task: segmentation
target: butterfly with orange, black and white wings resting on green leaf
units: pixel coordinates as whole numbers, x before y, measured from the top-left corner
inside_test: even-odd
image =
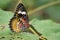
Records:
[[[47,40],[36,29],[29,24],[27,11],[22,3],[17,5],[14,16],[10,20],[10,29],[12,32],[26,32],[30,30],[33,34],[39,36],[40,40]]]

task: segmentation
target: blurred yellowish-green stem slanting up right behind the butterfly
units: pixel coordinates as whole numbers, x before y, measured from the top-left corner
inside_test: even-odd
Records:
[[[47,8],[47,7],[49,7],[49,6],[53,6],[53,5],[59,4],[59,3],[60,3],[60,1],[54,1],[54,2],[51,2],[51,3],[45,4],[45,5],[42,5],[42,6],[36,8],[36,9],[34,9],[34,10],[29,11],[29,12],[28,12],[28,15],[31,15],[32,13],[35,13],[35,12],[37,12],[37,11],[39,11],[39,10],[45,9],[45,8]]]

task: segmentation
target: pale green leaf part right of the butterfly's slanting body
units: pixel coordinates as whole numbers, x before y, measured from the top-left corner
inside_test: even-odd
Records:
[[[33,19],[30,24],[48,40],[60,40],[60,24],[52,20]]]

